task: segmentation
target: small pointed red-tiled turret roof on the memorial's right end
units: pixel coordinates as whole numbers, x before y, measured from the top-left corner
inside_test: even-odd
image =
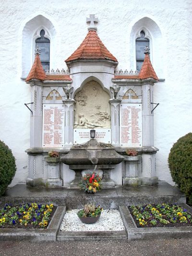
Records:
[[[146,78],[154,78],[156,80],[158,80],[158,77],[154,71],[154,68],[151,64],[150,58],[149,58],[149,54],[145,53],[145,57],[144,57],[144,63],[141,67],[141,70],[139,72],[139,78],[140,79],[146,79]]]

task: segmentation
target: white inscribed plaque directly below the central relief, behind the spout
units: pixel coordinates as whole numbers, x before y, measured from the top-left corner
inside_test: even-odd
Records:
[[[73,130],[73,144],[82,144],[91,139],[91,129],[74,129]],[[98,142],[111,143],[111,129],[95,129]]]

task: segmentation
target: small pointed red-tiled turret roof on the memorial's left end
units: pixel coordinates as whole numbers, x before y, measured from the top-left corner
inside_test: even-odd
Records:
[[[43,70],[39,54],[36,54],[35,61],[33,63],[33,66],[25,80],[25,82],[31,80],[31,79],[38,79],[38,80],[46,80],[46,73]]]

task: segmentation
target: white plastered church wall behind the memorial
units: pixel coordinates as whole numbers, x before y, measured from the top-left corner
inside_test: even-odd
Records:
[[[130,39],[130,35],[136,22],[149,17],[161,31],[160,45],[156,35],[151,35],[154,68],[159,78],[165,78],[154,88],[154,102],[160,103],[154,111],[155,146],[159,148],[156,163],[160,179],[171,182],[167,163],[170,147],[192,129],[191,1],[113,0],[111,4],[111,0],[1,0],[0,139],[16,157],[17,172],[12,185],[25,182],[28,165],[24,150],[29,147],[30,112],[24,103],[30,102],[30,86],[20,79],[24,26],[37,15],[50,20],[55,29],[54,40],[57,37],[55,49],[51,49],[51,67],[66,69],[64,60],[86,36],[86,17],[92,13],[99,19],[98,35],[118,59],[119,69],[134,68],[134,38]],[[153,33],[154,28],[148,29]]]

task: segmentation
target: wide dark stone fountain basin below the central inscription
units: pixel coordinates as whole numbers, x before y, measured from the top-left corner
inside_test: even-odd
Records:
[[[96,140],[91,140],[87,146],[74,146],[68,154],[61,157],[61,161],[67,165],[115,165],[123,160],[113,146],[98,143]]]

